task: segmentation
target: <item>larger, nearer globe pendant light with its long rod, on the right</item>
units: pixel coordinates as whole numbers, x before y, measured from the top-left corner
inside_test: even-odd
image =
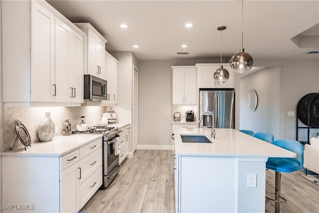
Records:
[[[245,73],[248,72],[254,64],[254,60],[251,55],[247,52],[244,52],[243,47],[243,21],[244,20],[244,0],[242,0],[242,17],[241,17],[241,49],[240,52],[234,54],[230,59],[230,67],[234,72]]]

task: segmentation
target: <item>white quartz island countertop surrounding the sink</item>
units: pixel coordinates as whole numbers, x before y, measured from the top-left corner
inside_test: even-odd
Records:
[[[205,135],[213,143],[183,143],[180,134]],[[175,155],[229,156],[229,157],[278,157],[295,158],[296,153],[272,145],[235,129],[178,128],[174,130]]]

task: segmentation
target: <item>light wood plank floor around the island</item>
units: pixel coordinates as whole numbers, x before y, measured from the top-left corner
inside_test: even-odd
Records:
[[[282,195],[288,200],[282,213],[319,213],[319,185],[302,177],[302,171],[282,174]],[[275,172],[266,171],[266,190],[273,192]],[[118,177],[99,190],[84,206],[86,213],[173,213],[174,171],[169,150],[137,150],[126,159]],[[265,212],[275,212],[274,202]]]

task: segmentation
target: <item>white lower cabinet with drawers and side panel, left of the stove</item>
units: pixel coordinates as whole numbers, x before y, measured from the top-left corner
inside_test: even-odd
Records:
[[[25,205],[22,212],[30,213],[78,212],[102,185],[102,140],[61,157],[1,156],[1,166],[2,205]]]

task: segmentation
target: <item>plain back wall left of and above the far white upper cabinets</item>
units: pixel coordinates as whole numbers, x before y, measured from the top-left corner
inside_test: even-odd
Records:
[[[172,69],[212,60],[139,60],[139,139],[150,149],[171,146]],[[182,115],[183,116],[183,115]],[[144,146],[147,147],[147,146]]]

